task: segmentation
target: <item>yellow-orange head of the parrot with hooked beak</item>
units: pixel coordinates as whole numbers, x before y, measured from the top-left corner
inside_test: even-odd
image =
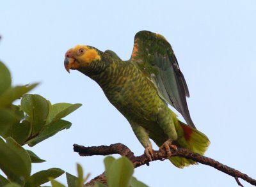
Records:
[[[66,52],[64,66],[69,73],[70,69],[86,68],[93,61],[100,61],[100,59],[99,50],[86,45],[76,45]]]

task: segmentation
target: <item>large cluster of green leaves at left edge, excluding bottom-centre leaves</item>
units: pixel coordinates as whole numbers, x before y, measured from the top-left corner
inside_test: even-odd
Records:
[[[39,142],[68,129],[71,123],[62,118],[74,112],[81,104],[56,103],[28,91],[38,84],[12,86],[10,71],[0,62],[0,186],[40,186],[61,176],[60,168],[49,168],[31,174],[31,163],[44,162],[25,144]],[[20,100],[20,105],[13,101]]]

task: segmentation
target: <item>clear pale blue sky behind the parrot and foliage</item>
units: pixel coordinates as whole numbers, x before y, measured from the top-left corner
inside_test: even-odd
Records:
[[[81,163],[92,177],[101,174],[104,156],[81,158],[72,151],[74,143],[122,142],[136,155],[143,153],[100,87],[78,71],[68,74],[63,60],[77,44],[129,59],[134,35],[144,29],[163,34],[173,46],[188,83],[191,117],[211,140],[205,155],[256,178],[255,0],[2,1],[0,59],[10,68],[13,84],[41,82],[31,93],[52,103],[83,103],[66,118],[70,130],[31,148],[47,160],[34,164],[33,172],[60,167],[76,175],[76,163]],[[179,169],[170,161],[136,168],[135,176],[152,187],[237,186],[234,178],[214,168]],[[64,176],[58,180],[66,183]]]

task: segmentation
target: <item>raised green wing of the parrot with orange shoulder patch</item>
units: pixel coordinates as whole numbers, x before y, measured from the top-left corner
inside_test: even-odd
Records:
[[[186,122],[195,128],[191,120],[186,96],[188,86],[172,47],[164,36],[150,31],[135,35],[130,61],[138,64],[141,71],[152,80],[159,96],[182,114]]]

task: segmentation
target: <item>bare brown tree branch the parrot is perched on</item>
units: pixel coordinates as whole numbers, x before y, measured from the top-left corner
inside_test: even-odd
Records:
[[[177,150],[172,149],[172,147],[170,148],[172,150],[172,156],[181,156],[184,158],[189,158],[191,160],[197,161],[198,163],[202,163],[204,165],[209,165],[211,167],[214,167],[220,170],[221,172],[224,172],[225,174],[228,174],[229,176],[234,177],[239,186],[243,186],[239,182],[239,178],[243,179],[244,181],[247,181],[253,186],[256,186],[255,179],[252,179],[251,177],[247,176],[246,174],[243,174],[242,172],[239,172],[239,170],[228,167],[227,165],[223,165],[222,163],[216,160],[213,160],[212,158],[193,153],[188,149],[184,149],[184,148],[178,147]],[[74,151],[79,153],[80,156],[120,154],[122,156],[126,156],[127,158],[129,158],[129,160],[132,161],[134,168],[140,167],[141,165],[145,165],[145,164],[149,165],[149,162],[150,162],[150,160],[147,158],[145,154],[142,154],[141,156],[134,156],[134,153],[132,153],[132,151],[128,147],[120,143],[111,144],[110,146],[92,146],[92,147],[84,147],[84,146],[79,146],[77,144],[74,144]],[[166,160],[170,157],[166,155],[166,151],[164,149],[160,149],[159,151],[154,151],[153,155],[154,155],[154,158],[152,158],[152,161]],[[100,181],[101,183],[106,184],[106,177],[104,176],[104,173],[95,177],[88,183],[86,183],[85,186],[91,186],[95,183],[95,181]]]

